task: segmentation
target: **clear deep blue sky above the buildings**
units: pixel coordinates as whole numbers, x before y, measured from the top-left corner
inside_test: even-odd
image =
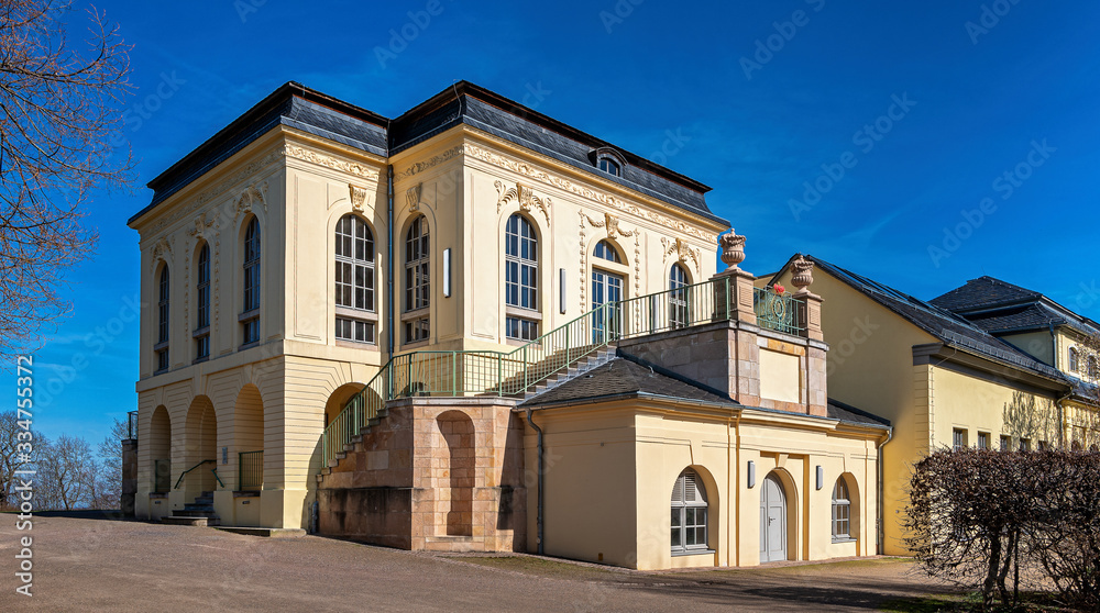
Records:
[[[466,79],[712,186],[755,274],[802,250],[925,299],[991,275],[1100,319],[1093,2],[97,7],[133,45],[140,186],[288,80],[396,116]],[[89,208],[98,252],[35,358],[47,435],[136,406],[125,220],[150,198]]]

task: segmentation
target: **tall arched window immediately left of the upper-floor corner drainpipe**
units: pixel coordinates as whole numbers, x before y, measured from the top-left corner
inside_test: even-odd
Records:
[[[337,222],[337,338],[374,343],[374,235],[361,218]]]

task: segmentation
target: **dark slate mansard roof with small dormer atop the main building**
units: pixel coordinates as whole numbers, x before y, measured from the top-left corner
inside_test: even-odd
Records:
[[[704,219],[728,224],[706,205],[704,194],[710,187],[468,81],[448,87],[393,120],[287,82],[150,181],[152,202],[128,223],[280,124],[381,156],[397,154],[466,124]],[[596,168],[593,152],[604,147],[626,160],[622,177]]]

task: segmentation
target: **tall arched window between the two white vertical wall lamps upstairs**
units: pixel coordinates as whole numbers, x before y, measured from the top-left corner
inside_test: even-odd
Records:
[[[504,233],[504,296],[506,336],[519,341],[539,337],[539,242],[535,226],[519,213],[508,218]]]

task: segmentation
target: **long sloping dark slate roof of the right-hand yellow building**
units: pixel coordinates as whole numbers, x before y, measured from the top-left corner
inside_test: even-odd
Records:
[[[862,277],[814,256],[806,256],[814,265],[871,300],[898,313],[913,325],[927,332],[945,345],[960,348],[996,361],[1009,364],[1024,371],[1059,382],[1068,382],[1065,375],[1043,364],[1016,347],[1001,341],[978,325],[947,309],[925,302],[889,286]]]

